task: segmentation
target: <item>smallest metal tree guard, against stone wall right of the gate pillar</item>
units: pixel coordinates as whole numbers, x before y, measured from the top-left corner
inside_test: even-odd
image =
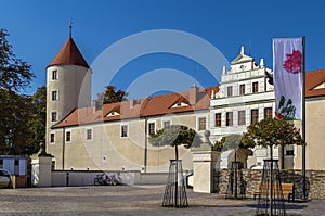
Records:
[[[238,191],[239,195],[238,196]],[[245,196],[245,181],[240,162],[232,162],[231,171],[229,175],[227,190],[225,198],[243,199]]]

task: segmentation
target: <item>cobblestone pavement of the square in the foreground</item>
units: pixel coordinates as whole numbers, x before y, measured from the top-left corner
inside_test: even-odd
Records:
[[[96,186],[1,189],[0,215],[253,215],[256,201],[187,190],[188,207],[161,207],[164,187]],[[325,200],[286,203],[288,215],[324,215]]]

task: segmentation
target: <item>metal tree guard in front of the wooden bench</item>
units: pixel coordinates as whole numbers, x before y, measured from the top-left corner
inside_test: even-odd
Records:
[[[285,216],[278,160],[264,160],[256,216]]]

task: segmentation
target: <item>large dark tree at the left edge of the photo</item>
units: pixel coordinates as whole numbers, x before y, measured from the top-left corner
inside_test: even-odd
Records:
[[[26,153],[31,136],[29,125],[31,98],[20,93],[29,86],[34,74],[30,65],[15,56],[0,29],[0,154]]]

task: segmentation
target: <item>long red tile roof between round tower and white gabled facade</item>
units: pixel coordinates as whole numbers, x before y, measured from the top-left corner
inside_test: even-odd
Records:
[[[104,104],[102,110],[98,111],[95,111],[93,106],[81,107],[73,111],[67,117],[54,125],[52,128],[207,110],[210,106],[212,90],[217,92],[219,88],[210,87],[205,90],[200,90],[197,103],[192,106],[172,107],[172,105],[178,102],[190,104],[190,91],[184,91],[133,101]],[[131,102],[133,102],[133,105],[131,105]],[[118,115],[107,116],[112,112],[116,112]]]

